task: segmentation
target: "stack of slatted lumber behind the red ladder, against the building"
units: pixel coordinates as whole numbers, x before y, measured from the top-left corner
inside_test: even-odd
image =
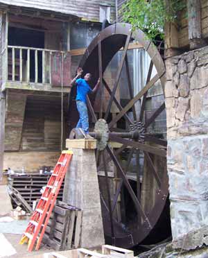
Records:
[[[33,207],[33,201],[40,199],[42,193],[40,190],[42,187],[46,186],[51,173],[47,174],[20,174],[20,175],[9,175],[8,176],[8,185],[17,189],[21,196],[26,200],[28,205]],[[64,182],[58,193],[58,200],[62,200]],[[17,207],[14,201],[12,201],[12,207]]]

